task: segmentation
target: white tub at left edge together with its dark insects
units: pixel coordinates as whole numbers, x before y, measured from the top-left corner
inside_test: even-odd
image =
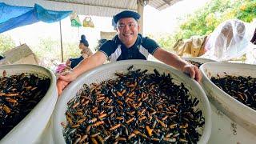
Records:
[[[0,142],[37,142],[57,102],[54,74],[25,64],[1,66],[0,74]]]

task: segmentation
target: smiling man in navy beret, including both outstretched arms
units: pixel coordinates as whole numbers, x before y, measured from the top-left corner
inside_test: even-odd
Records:
[[[58,94],[61,94],[62,90],[80,74],[101,66],[107,59],[110,62],[126,59],[146,60],[149,54],[152,54],[154,58],[167,65],[174,66],[178,70],[190,74],[191,78],[200,82],[202,75],[197,66],[182,60],[176,54],[163,50],[153,39],[144,38],[141,34],[138,34],[139,18],[140,15],[138,13],[130,10],[116,14],[113,20],[117,26],[118,35],[105,42],[90,58],[84,59],[74,69],[60,75],[57,81]]]

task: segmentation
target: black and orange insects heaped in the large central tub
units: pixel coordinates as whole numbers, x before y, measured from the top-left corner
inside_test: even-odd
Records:
[[[198,99],[170,74],[132,69],[78,90],[62,122],[66,143],[198,142],[205,123]]]

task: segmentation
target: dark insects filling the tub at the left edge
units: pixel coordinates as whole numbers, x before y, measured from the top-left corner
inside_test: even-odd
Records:
[[[0,77],[0,139],[21,122],[38,104],[50,86],[50,78],[35,74]],[[34,125],[31,123],[31,125]]]

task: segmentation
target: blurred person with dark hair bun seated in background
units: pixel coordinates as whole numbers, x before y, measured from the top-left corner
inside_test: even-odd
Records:
[[[81,50],[81,56],[79,58],[69,58],[66,61],[66,66],[70,66],[72,69],[78,65],[83,59],[89,58],[93,53],[89,48],[89,43],[86,40],[84,34],[81,35],[81,40],[79,43],[79,49]]]

